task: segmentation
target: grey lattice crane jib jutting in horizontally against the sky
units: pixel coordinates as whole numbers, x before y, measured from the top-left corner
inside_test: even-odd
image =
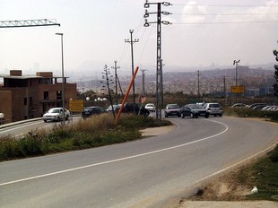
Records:
[[[60,26],[60,24],[56,23],[56,19],[0,21],[0,28],[41,27],[41,26]]]

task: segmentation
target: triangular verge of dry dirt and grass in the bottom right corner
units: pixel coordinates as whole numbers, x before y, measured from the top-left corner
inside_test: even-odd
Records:
[[[278,202],[278,144],[263,157],[213,178],[189,196],[193,201]],[[253,192],[256,186],[257,192]]]

